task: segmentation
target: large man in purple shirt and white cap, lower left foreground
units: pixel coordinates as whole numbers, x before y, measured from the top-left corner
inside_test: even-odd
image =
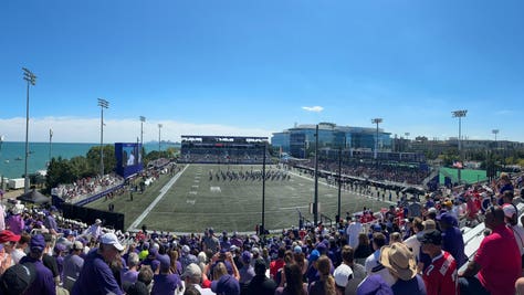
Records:
[[[98,249],[91,251],[84,261],[84,266],[76,280],[71,295],[115,294],[122,295],[120,286],[116,282],[107,263],[114,261],[124,246],[114,233],[101,236]]]

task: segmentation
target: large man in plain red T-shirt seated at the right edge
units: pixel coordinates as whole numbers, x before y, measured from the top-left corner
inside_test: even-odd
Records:
[[[461,295],[515,294],[515,281],[521,276],[521,253],[515,236],[505,223],[501,207],[485,212],[485,236],[463,273],[459,273]]]

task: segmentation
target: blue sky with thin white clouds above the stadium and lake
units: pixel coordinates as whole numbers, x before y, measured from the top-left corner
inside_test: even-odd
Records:
[[[270,136],[331,122],[524,141],[524,2],[1,1],[0,134],[99,141]],[[310,110],[312,107],[315,110]]]

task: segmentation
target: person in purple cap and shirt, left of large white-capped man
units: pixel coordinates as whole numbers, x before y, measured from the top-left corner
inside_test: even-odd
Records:
[[[24,294],[55,295],[56,286],[54,285],[53,273],[42,263],[42,255],[45,249],[43,235],[33,235],[29,246],[30,253],[20,260],[20,264],[32,263],[36,277]]]

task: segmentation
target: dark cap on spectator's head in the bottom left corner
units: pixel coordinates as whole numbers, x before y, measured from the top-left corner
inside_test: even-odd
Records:
[[[34,282],[36,272],[31,263],[14,264],[6,270],[0,278],[0,288],[2,294],[23,294]]]

